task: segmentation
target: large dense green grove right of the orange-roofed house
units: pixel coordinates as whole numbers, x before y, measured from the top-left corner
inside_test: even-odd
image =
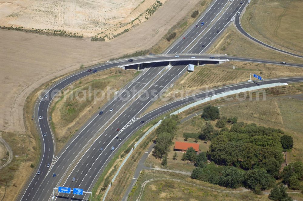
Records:
[[[211,140],[208,157],[220,165],[244,170],[264,168],[277,176],[283,162],[281,130],[256,124],[234,124]]]

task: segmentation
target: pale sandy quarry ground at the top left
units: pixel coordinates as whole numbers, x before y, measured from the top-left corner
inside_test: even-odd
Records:
[[[65,30],[84,37],[115,35],[153,4],[155,0],[0,0],[0,25]]]

